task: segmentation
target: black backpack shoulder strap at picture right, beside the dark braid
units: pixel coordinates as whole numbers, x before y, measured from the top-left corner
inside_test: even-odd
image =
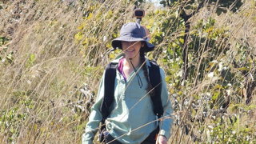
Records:
[[[160,118],[163,114],[161,91],[162,91],[162,78],[160,74],[160,67],[154,61],[150,61],[149,77],[150,83],[154,89],[154,94],[150,96],[153,102],[154,114]]]

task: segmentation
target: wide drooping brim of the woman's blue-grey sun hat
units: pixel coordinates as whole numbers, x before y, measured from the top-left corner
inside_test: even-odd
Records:
[[[154,45],[151,44],[150,42],[147,42],[146,39],[144,38],[134,38],[134,37],[119,37],[119,38],[115,38],[112,42],[111,45],[114,49],[119,48],[122,50],[122,42],[145,42],[146,46],[145,47],[145,52],[149,52],[154,50]]]

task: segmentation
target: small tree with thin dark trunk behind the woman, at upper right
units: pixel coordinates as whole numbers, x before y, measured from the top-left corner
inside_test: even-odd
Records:
[[[203,7],[214,6],[215,12],[219,15],[226,13],[228,10],[236,12],[240,6],[242,6],[242,0],[162,0],[160,2],[164,7],[178,6],[178,14],[185,23],[184,43],[182,48],[182,60],[183,60],[183,76],[182,81],[187,79],[188,76],[188,38],[190,34],[190,18],[197,14]]]

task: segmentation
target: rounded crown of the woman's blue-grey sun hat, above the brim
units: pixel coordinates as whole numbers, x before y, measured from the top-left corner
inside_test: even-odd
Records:
[[[120,35],[126,37],[146,39],[146,31],[141,25],[136,22],[129,22],[123,25],[120,31]]]

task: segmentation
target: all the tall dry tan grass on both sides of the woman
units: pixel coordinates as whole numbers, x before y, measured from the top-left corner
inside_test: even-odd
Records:
[[[2,4],[0,11],[0,35],[10,39],[1,46],[0,56],[5,62],[0,64],[0,110],[1,117],[8,121],[2,126],[0,142],[17,143],[79,143],[86,124],[88,110],[91,106],[90,98],[98,89],[98,81],[107,62],[110,61],[110,41],[118,36],[120,26],[133,21],[133,2],[125,1],[75,1],[73,3],[60,1],[18,0]],[[144,5],[146,12],[154,11],[154,6]],[[220,45],[230,43],[230,56],[236,56],[238,50],[235,42],[246,38],[255,53],[255,8],[247,2],[238,14],[222,14],[217,16],[214,11],[202,10],[192,19],[196,25],[200,18],[214,17],[218,19],[218,26],[228,26],[230,34]],[[160,14],[159,14],[160,15]],[[154,18],[158,20],[158,15]],[[170,17],[166,14],[166,18]],[[143,22],[147,26],[146,22]],[[170,27],[174,27],[174,23]],[[156,50],[149,57],[161,55],[161,47],[173,42],[182,34],[182,27],[170,30],[171,34],[158,43]],[[220,39],[222,40],[222,39]],[[194,63],[203,61],[210,54],[202,45],[198,59]],[[6,52],[4,52],[6,50]],[[115,52],[118,55],[121,52]],[[9,55],[8,55],[9,54]],[[232,55],[233,54],[233,55]],[[10,62],[8,62],[8,58]],[[232,57],[231,57],[232,58]],[[235,58],[235,57],[233,57]],[[255,57],[254,57],[255,58]],[[220,60],[221,57],[215,60]],[[231,62],[231,61],[230,61]],[[161,62],[160,62],[161,63]],[[162,67],[169,68],[161,63]],[[191,65],[192,65],[191,64]],[[197,65],[199,70],[199,65]],[[182,70],[182,68],[180,68]],[[197,79],[199,71],[194,75]],[[242,81],[252,81],[244,78]],[[197,81],[197,82],[195,82]],[[182,101],[178,103],[180,109],[174,112],[177,122],[173,126],[170,143],[190,143],[191,134],[200,136],[199,142],[209,142],[208,129],[199,132],[202,126],[212,125],[211,116],[222,117],[210,111],[206,120],[200,125],[190,122],[191,106],[194,95],[202,96],[198,102],[195,119],[202,118],[206,96],[202,94],[212,89],[214,81],[204,77],[195,80],[189,86],[183,86]],[[86,83],[86,86],[84,85]],[[246,84],[246,82],[242,82]],[[233,87],[230,87],[232,90]],[[173,89],[172,86],[169,89]],[[244,89],[242,89],[244,90]],[[91,93],[86,93],[91,92]],[[245,92],[242,92],[245,94]],[[252,92],[255,97],[255,90]],[[235,97],[236,94],[234,94]],[[93,99],[92,98],[92,99]],[[172,101],[175,98],[170,97]],[[233,98],[236,99],[236,98]],[[245,103],[246,98],[242,99]],[[175,102],[174,102],[175,103]],[[185,104],[184,104],[185,103]],[[255,105],[255,98],[251,104]],[[217,105],[217,104],[216,104]],[[234,112],[230,112],[230,115]],[[250,114],[243,114],[240,118],[244,125],[255,123],[255,110]],[[250,122],[247,122],[250,121]],[[9,123],[8,123],[9,122]],[[186,126],[189,134],[185,134]],[[207,135],[208,134],[208,135]]]

